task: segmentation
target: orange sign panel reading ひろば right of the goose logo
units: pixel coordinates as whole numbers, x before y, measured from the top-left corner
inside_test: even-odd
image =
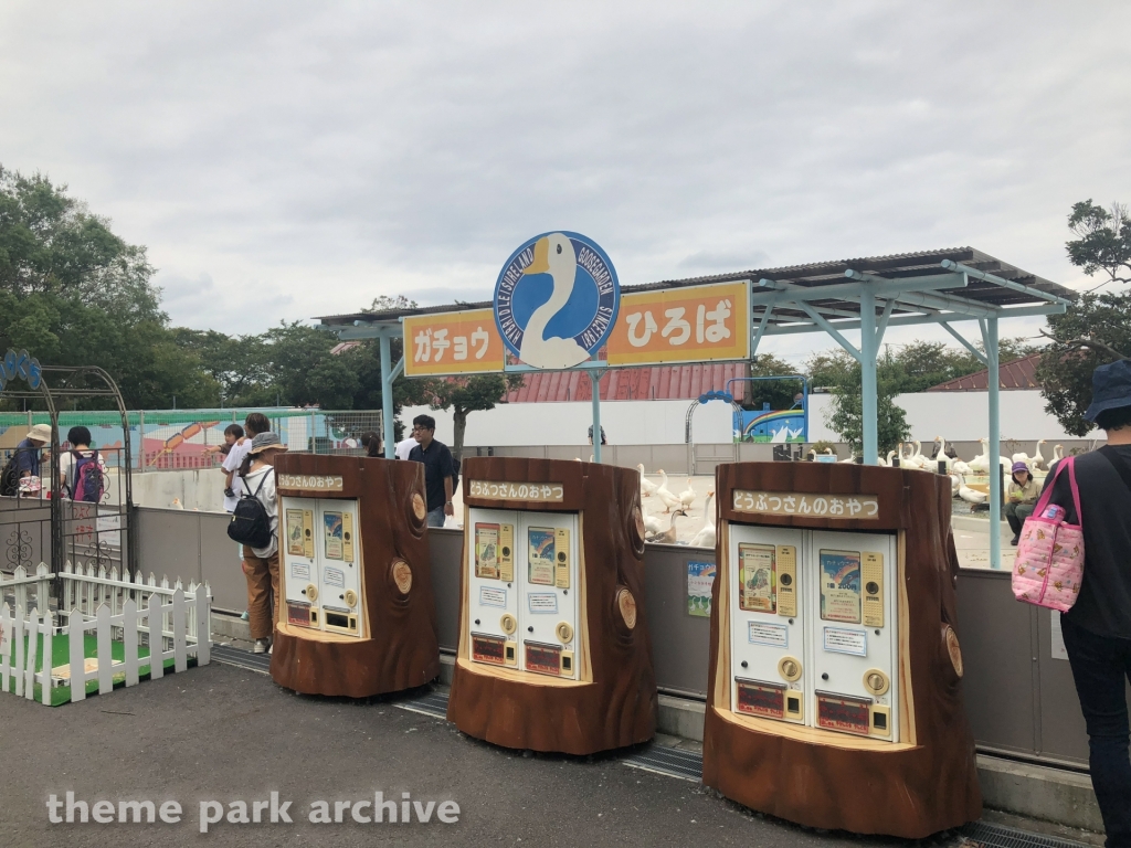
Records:
[[[621,295],[610,365],[750,357],[750,284],[715,283]]]

